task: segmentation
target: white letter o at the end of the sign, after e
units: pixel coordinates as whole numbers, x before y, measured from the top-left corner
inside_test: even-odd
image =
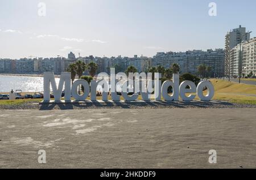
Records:
[[[204,87],[207,87],[208,91],[206,96],[203,94]],[[196,93],[201,101],[210,101],[214,96],[214,87],[211,82],[203,81],[197,85]]]

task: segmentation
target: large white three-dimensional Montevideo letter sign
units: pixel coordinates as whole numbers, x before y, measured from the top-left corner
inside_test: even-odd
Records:
[[[71,72],[62,72],[60,75],[59,85],[57,87],[55,76],[53,72],[44,72],[44,101],[50,101],[50,85],[52,87],[55,102],[60,102],[61,93],[64,88],[65,102],[71,102],[71,97],[75,101],[85,101],[90,95],[91,101],[96,101],[96,89],[98,86],[102,87],[102,100],[108,101],[108,94],[110,93],[113,101],[120,101],[120,96],[117,95],[117,87],[121,87],[121,95],[126,101],[137,100],[139,94],[143,101],[179,101],[179,96],[183,101],[192,101],[196,95],[201,101],[210,101],[214,95],[214,87],[209,81],[201,81],[197,87],[195,83],[186,80],[179,84],[179,74],[173,74],[173,80],[167,80],[161,83],[161,74],[154,73],[154,80],[152,80],[152,73],[141,72],[129,73],[127,78],[124,72],[115,74],[114,68],[110,70],[110,85],[109,89],[109,75],[105,72],[98,74],[100,80],[92,80],[90,85],[86,80],[76,80],[71,85]],[[128,80],[127,80],[128,79]],[[84,92],[79,94],[78,87],[82,85]],[[169,87],[172,87],[171,94],[168,93]],[[207,87],[207,94],[204,95],[204,89]],[[131,93],[133,92],[133,93]],[[196,95],[195,95],[196,93]]]

